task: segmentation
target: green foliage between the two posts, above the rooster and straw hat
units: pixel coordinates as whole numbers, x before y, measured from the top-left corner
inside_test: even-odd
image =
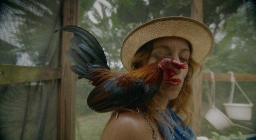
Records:
[[[80,26],[97,38],[111,69],[125,70],[120,60],[120,46],[125,36],[153,18],[189,17],[190,4],[191,0],[81,0]]]

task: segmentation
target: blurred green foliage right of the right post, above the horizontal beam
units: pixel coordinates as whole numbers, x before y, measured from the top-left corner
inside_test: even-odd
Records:
[[[230,3],[235,0],[225,1]],[[254,7],[250,2],[242,2],[239,6],[235,4],[236,10],[233,9],[234,7],[230,7],[230,12],[227,10],[224,12],[220,9],[226,9],[223,7],[225,5],[216,6],[216,9],[211,11],[213,15],[218,13],[215,17],[218,18],[218,21],[214,20],[208,23],[215,34],[216,42],[209,57],[203,61],[203,71],[255,73],[256,48],[253,44],[256,43],[256,32],[253,30],[256,29],[256,23],[253,16]],[[206,21],[208,22],[208,18]]]

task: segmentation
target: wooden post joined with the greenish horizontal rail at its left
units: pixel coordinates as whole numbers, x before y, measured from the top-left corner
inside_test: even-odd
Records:
[[[63,25],[78,25],[79,0],[63,0]],[[62,33],[60,68],[0,64],[0,85],[40,80],[59,80],[58,139],[75,139],[76,75],[65,51],[71,47],[70,32]]]

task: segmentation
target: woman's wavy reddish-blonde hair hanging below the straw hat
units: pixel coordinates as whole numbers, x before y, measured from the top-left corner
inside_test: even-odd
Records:
[[[145,43],[136,51],[135,55],[133,56],[130,62],[130,66],[133,68],[133,70],[141,67],[142,66],[141,62],[149,58],[153,50],[154,40],[151,40]],[[187,42],[189,44],[190,52],[192,52],[191,45],[189,41]],[[184,79],[179,95],[175,99],[170,100],[168,104],[175,113],[177,113],[180,117],[183,118],[183,122],[181,122],[181,125],[185,125],[186,123],[190,124],[192,122],[192,118],[193,118],[192,79],[193,79],[193,76],[197,76],[197,74],[195,74],[196,70],[201,71],[201,65],[195,62],[190,55],[188,59],[188,73]],[[156,126],[157,126],[157,123],[159,122],[161,122],[162,124],[167,124],[166,120],[159,114],[159,112],[161,112],[162,114],[165,114],[165,112],[168,112],[168,111],[164,106],[160,105],[160,102],[157,100],[156,96],[153,97],[151,100],[149,100],[143,106],[140,106],[139,110],[145,115],[146,118],[151,119]],[[168,129],[167,125],[163,127],[166,130]],[[172,126],[172,129],[173,129],[173,126]]]

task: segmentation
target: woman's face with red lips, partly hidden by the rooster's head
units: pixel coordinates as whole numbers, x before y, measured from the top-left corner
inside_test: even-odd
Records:
[[[153,50],[147,60],[142,61],[142,65],[155,62],[159,55],[171,56],[174,60],[179,62],[187,62],[190,56],[188,43],[185,39],[180,37],[162,37],[153,41]],[[171,100],[178,96],[184,82],[184,78],[188,72],[188,64],[186,69],[180,69],[181,73],[175,74],[171,81],[163,79],[157,96],[160,100]]]

